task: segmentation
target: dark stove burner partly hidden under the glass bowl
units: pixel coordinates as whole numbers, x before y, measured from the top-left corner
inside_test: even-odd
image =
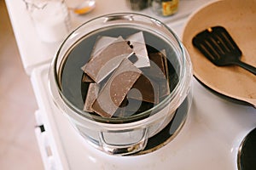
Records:
[[[158,150],[160,149],[160,147],[166,145],[172,139],[174,139],[174,137],[180,131],[181,127],[183,127],[188,111],[189,101],[188,99],[185,99],[183,101],[183,104],[180,105],[179,108],[177,108],[177,111],[173,116],[172,121],[169,122],[169,124],[167,124],[167,126],[162,129],[160,133],[157,133],[153,137],[149,138],[148,144],[146,145],[145,149],[135,155],[147,154],[154,150]]]

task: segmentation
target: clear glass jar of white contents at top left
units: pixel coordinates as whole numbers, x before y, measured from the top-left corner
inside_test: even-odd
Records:
[[[61,42],[70,31],[70,16],[64,0],[23,0],[38,37],[43,42]]]

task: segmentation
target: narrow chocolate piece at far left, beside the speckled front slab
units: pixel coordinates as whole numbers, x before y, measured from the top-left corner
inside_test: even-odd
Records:
[[[93,112],[91,109],[91,105],[96,100],[99,94],[99,85],[97,83],[90,83],[88,92],[84,102],[84,111]]]

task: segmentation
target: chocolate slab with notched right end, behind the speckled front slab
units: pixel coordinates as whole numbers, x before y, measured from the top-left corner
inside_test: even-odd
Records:
[[[84,72],[95,82],[101,82],[116,69],[119,63],[133,54],[132,49],[125,41],[117,40],[104,48],[99,54],[91,57],[84,65]]]

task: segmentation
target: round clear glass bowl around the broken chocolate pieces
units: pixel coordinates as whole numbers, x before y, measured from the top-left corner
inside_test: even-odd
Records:
[[[168,73],[171,92],[159,104],[132,116],[102,117],[83,111],[81,67],[89,62],[96,39],[127,37],[137,31],[143,31],[148,46],[165,49],[172,65]],[[148,139],[172,121],[183,101],[191,101],[191,81],[192,65],[182,42],[168,26],[142,14],[108,14],[85,22],[61,44],[49,70],[51,95],[73,127],[96,149],[121,156],[143,150]]]

